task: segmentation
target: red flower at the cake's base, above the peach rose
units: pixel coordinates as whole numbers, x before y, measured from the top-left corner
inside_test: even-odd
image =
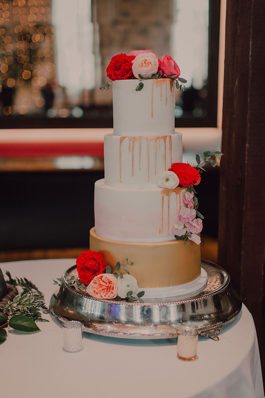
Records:
[[[107,263],[103,261],[103,254],[87,250],[79,254],[76,259],[78,277],[82,283],[89,285],[92,279],[106,269]]]

